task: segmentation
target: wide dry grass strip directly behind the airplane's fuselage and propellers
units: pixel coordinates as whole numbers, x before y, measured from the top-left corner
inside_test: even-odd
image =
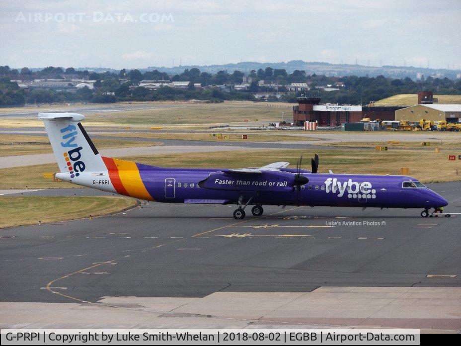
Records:
[[[460,161],[448,161],[448,155],[457,155],[458,150],[435,153],[434,148],[400,149],[380,152],[363,149],[315,150],[320,156],[320,173],[399,174],[400,168],[410,169],[410,175],[424,182],[457,181],[461,179]],[[243,168],[260,167],[277,161],[288,161],[296,167],[300,155],[303,167],[310,169],[310,157],[314,150],[274,149],[230,151],[220,153],[163,154],[146,157],[127,157],[148,165],[190,168]],[[8,168],[0,170],[0,189],[5,188],[57,188],[76,187],[67,182],[53,182],[43,173],[57,172],[56,164]]]

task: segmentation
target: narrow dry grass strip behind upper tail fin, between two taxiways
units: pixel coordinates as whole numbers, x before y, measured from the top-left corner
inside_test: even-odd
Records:
[[[144,147],[160,145],[159,142],[143,142],[135,139],[95,139],[94,145],[99,149],[123,148],[123,147]],[[27,135],[1,135],[0,156],[31,155],[51,153],[51,145],[48,137],[27,136]]]

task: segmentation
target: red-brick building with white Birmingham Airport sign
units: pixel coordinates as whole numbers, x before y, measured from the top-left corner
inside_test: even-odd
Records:
[[[299,97],[298,105],[293,107],[293,122],[317,122],[319,126],[341,126],[346,122],[359,122],[362,118],[370,120],[395,120],[395,111],[402,106],[362,106],[320,104],[319,97]]]

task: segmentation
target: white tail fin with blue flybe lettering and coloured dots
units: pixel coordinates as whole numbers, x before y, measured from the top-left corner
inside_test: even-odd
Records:
[[[107,168],[80,121],[77,113],[39,113],[50,139],[61,173],[71,178],[81,172],[102,173]]]

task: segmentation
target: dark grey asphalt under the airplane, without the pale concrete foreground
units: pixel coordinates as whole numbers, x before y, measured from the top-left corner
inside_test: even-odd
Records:
[[[460,183],[431,186],[461,211]],[[67,194],[88,189],[32,191]],[[88,190],[89,191],[89,190]],[[444,192],[441,192],[444,191]],[[23,192],[27,195],[27,192]],[[82,192],[80,192],[82,193]],[[460,286],[458,216],[419,210],[150,203],[106,217],[0,231],[1,301],[65,302],[53,286],[101,296],[203,297],[217,291],[309,292],[319,286]],[[339,222],[339,225],[333,223]],[[94,267],[94,263],[97,264]],[[115,264],[116,263],[116,264]],[[456,275],[427,277],[427,275]]]

